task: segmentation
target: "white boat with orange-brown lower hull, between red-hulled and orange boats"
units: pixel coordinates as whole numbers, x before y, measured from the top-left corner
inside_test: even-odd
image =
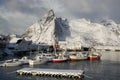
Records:
[[[83,54],[82,52],[79,52],[79,53],[71,53],[69,55],[69,58],[71,61],[79,61],[79,60],[87,60],[88,56],[87,54]]]

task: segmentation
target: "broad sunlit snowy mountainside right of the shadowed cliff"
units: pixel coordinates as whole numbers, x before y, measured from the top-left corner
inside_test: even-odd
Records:
[[[69,25],[73,32],[72,35],[80,36],[83,45],[110,46],[120,44],[119,34],[117,34],[119,32],[118,27],[112,24],[108,27],[85,19],[79,19],[70,21]]]

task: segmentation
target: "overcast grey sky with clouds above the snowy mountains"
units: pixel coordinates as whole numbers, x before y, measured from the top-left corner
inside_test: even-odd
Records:
[[[0,34],[24,33],[50,9],[57,17],[120,23],[120,0],[0,0]]]

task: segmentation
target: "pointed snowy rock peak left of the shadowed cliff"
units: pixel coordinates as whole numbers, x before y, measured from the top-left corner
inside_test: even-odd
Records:
[[[53,10],[50,10],[41,20],[30,26],[23,37],[33,43],[52,44],[54,33],[55,16]]]

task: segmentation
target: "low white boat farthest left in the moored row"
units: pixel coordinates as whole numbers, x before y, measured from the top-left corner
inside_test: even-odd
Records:
[[[20,66],[22,62],[18,59],[6,60],[1,66],[3,67],[12,67],[12,66]]]

